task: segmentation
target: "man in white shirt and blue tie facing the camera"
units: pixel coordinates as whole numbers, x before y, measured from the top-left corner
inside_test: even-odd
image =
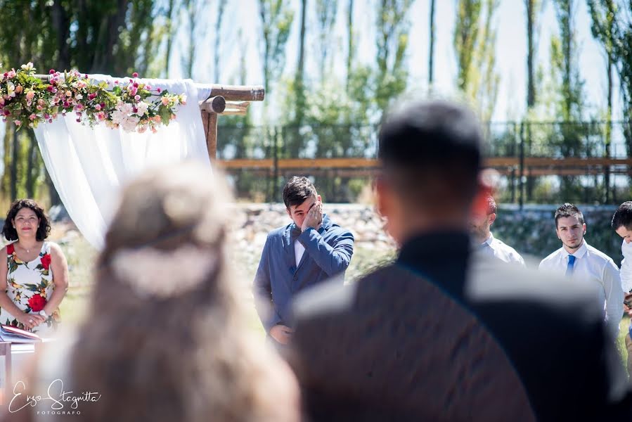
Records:
[[[562,248],[544,258],[540,269],[594,281],[595,294],[604,302],[608,331],[617,338],[624,300],[619,267],[608,255],[586,243],[586,223],[575,205],[565,203],[557,208],[555,232]]]

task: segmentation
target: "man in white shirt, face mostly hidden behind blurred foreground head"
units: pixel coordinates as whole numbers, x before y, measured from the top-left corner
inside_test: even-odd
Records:
[[[470,216],[470,234],[475,251],[489,254],[504,262],[524,265],[524,260],[514,248],[491,234],[491,224],[496,220],[496,201],[491,195],[488,195],[486,200],[486,213],[472,212]]]

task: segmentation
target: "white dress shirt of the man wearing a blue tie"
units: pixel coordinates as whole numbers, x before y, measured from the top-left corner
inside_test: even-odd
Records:
[[[566,274],[569,252],[560,248],[540,262],[540,269]],[[621,289],[619,267],[605,253],[593,248],[583,240],[578,250],[574,252],[575,263],[573,278],[583,278],[594,282],[600,302],[604,302],[605,321],[608,331],[617,337],[619,322],[623,315],[624,293]]]

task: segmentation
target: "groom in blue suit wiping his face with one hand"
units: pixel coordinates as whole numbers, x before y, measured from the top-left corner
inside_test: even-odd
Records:
[[[283,203],[292,223],[268,234],[252,286],[259,319],[280,345],[292,336],[292,298],[334,277],[342,284],[354,252],[354,236],[323,214],[321,196],[307,177],[285,184]]]

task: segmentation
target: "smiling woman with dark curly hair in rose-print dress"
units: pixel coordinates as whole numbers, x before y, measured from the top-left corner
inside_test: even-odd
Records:
[[[2,234],[13,241],[0,250],[0,324],[50,335],[68,288],[68,266],[56,243],[46,241],[51,222],[32,199],[11,204]]]

